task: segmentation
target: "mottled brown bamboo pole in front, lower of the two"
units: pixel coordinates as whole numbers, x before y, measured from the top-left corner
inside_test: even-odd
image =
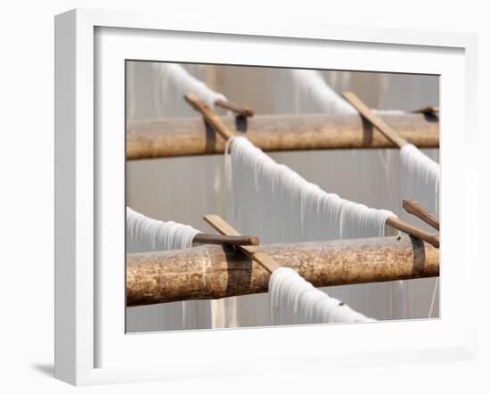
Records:
[[[439,250],[408,235],[261,245],[316,287],[439,275]],[[231,246],[127,255],[127,306],[267,291],[270,274]]]

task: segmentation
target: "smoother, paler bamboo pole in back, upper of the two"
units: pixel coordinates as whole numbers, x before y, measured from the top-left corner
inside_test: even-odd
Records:
[[[312,149],[377,149],[396,145],[352,115],[255,115],[218,117],[228,130],[245,135],[265,152]],[[439,146],[439,122],[421,113],[381,115],[390,127],[420,148]],[[201,117],[127,123],[127,160],[223,153],[225,141]]]

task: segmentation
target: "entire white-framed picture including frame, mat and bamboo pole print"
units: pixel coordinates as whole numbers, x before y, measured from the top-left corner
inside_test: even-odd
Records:
[[[55,376],[474,357],[476,38],[235,22],[56,16]]]

